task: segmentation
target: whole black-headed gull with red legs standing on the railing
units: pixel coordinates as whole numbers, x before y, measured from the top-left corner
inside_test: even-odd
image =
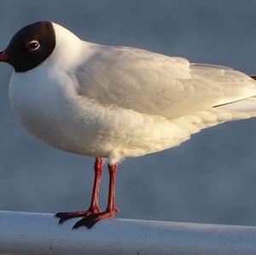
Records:
[[[254,76],[146,49],[91,43],[53,21],[21,28],[0,61],[14,68],[9,99],[21,125],[55,148],[96,159],[88,210],[55,214],[59,223],[81,217],[73,229],[90,229],[119,212],[115,180],[123,159],[256,116]],[[105,161],[108,206],[102,211]]]

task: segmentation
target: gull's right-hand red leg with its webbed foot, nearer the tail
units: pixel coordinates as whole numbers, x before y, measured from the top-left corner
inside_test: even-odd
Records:
[[[73,229],[77,229],[80,226],[86,226],[90,229],[96,222],[102,220],[103,218],[113,217],[118,208],[115,206],[115,179],[117,172],[117,164],[108,164],[109,171],[109,189],[108,189],[108,206],[105,212],[97,212],[83,217],[79,222],[75,223]]]

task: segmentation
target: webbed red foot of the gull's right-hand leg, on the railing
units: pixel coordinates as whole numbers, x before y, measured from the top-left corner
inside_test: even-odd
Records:
[[[116,208],[113,212],[106,211],[87,215],[75,223],[72,229],[78,229],[81,226],[85,226],[87,229],[90,229],[95,223],[102,220],[103,218],[114,217],[117,210],[118,209]]]

